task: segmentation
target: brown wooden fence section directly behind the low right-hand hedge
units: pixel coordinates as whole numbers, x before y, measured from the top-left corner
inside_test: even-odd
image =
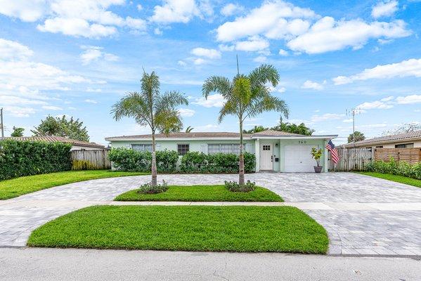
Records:
[[[375,148],[374,159],[389,161],[390,157],[396,161],[409,164],[421,162],[421,148]]]

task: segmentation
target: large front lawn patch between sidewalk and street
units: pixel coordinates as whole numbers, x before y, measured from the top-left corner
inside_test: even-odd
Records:
[[[34,230],[28,246],[325,254],[328,235],[294,207],[94,206]]]

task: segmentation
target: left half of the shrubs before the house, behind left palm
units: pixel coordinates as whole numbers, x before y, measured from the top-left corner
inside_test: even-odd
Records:
[[[149,172],[152,165],[152,153],[136,151],[129,148],[112,148],[108,159],[118,171]],[[164,150],[156,152],[157,171],[160,173],[174,173],[179,155],[176,151]]]

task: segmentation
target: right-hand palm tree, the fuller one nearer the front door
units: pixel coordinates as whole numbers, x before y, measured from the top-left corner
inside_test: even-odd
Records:
[[[285,101],[271,95],[267,84],[276,87],[279,82],[278,70],[273,65],[260,65],[250,74],[237,74],[233,80],[226,77],[212,76],[205,80],[202,94],[207,98],[217,92],[226,102],[219,111],[218,122],[226,115],[235,115],[240,124],[240,163],[238,183],[244,185],[244,149],[242,141],[242,122],[246,118],[256,117],[262,112],[275,110],[288,117]]]

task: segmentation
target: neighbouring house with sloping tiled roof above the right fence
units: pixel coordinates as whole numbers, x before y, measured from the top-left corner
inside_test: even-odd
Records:
[[[344,145],[345,148],[421,148],[421,131],[370,138]]]

